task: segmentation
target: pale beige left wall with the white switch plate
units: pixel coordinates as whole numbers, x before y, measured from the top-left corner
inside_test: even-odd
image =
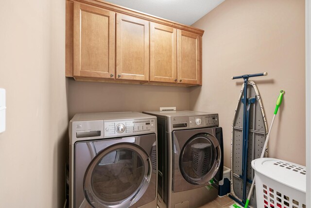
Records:
[[[2,1],[0,207],[60,208],[68,152],[65,0]]]

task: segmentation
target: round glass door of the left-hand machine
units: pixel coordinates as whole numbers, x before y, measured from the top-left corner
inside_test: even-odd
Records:
[[[84,193],[94,208],[128,208],[148,188],[152,165],[138,145],[119,143],[97,154],[86,170]]]

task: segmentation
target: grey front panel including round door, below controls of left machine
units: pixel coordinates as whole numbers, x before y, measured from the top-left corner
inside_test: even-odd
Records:
[[[155,141],[155,134],[148,134],[77,142],[74,207],[129,208],[155,200]],[[148,194],[139,202],[146,191]]]

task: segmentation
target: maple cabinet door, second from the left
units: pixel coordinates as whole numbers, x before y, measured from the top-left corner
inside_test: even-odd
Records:
[[[149,21],[117,14],[118,79],[149,80]]]

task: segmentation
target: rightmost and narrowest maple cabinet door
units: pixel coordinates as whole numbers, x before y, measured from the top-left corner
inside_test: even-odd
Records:
[[[200,36],[178,30],[178,83],[200,84]]]

